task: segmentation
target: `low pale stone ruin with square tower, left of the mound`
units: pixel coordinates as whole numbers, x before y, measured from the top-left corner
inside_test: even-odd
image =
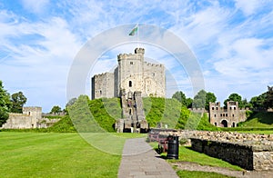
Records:
[[[9,114],[3,129],[46,128],[59,119],[42,118],[42,107],[23,107],[23,114]]]

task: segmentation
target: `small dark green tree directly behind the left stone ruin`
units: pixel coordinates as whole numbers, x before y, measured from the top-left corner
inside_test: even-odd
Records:
[[[23,112],[23,105],[26,103],[27,98],[22,92],[18,92],[11,95],[11,102],[12,102],[12,113],[22,113]]]

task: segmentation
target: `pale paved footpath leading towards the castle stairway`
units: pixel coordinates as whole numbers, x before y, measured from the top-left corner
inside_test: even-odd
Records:
[[[119,178],[177,178],[171,165],[146,143],[146,138],[127,139],[119,165]]]

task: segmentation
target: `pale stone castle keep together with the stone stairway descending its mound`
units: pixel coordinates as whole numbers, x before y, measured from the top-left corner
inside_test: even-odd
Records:
[[[118,54],[114,73],[92,77],[92,99],[121,98],[122,118],[116,121],[116,132],[147,133],[142,97],[165,97],[165,67],[145,62],[144,54],[144,48]]]

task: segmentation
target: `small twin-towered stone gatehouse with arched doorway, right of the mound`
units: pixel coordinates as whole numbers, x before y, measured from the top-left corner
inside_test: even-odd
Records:
[[[238,102],[227,102],[227,109],[220,107],[220,102],[209,103],[209,122],[220,127],[236,127],[246,121],[246,110],[239,109]]]

